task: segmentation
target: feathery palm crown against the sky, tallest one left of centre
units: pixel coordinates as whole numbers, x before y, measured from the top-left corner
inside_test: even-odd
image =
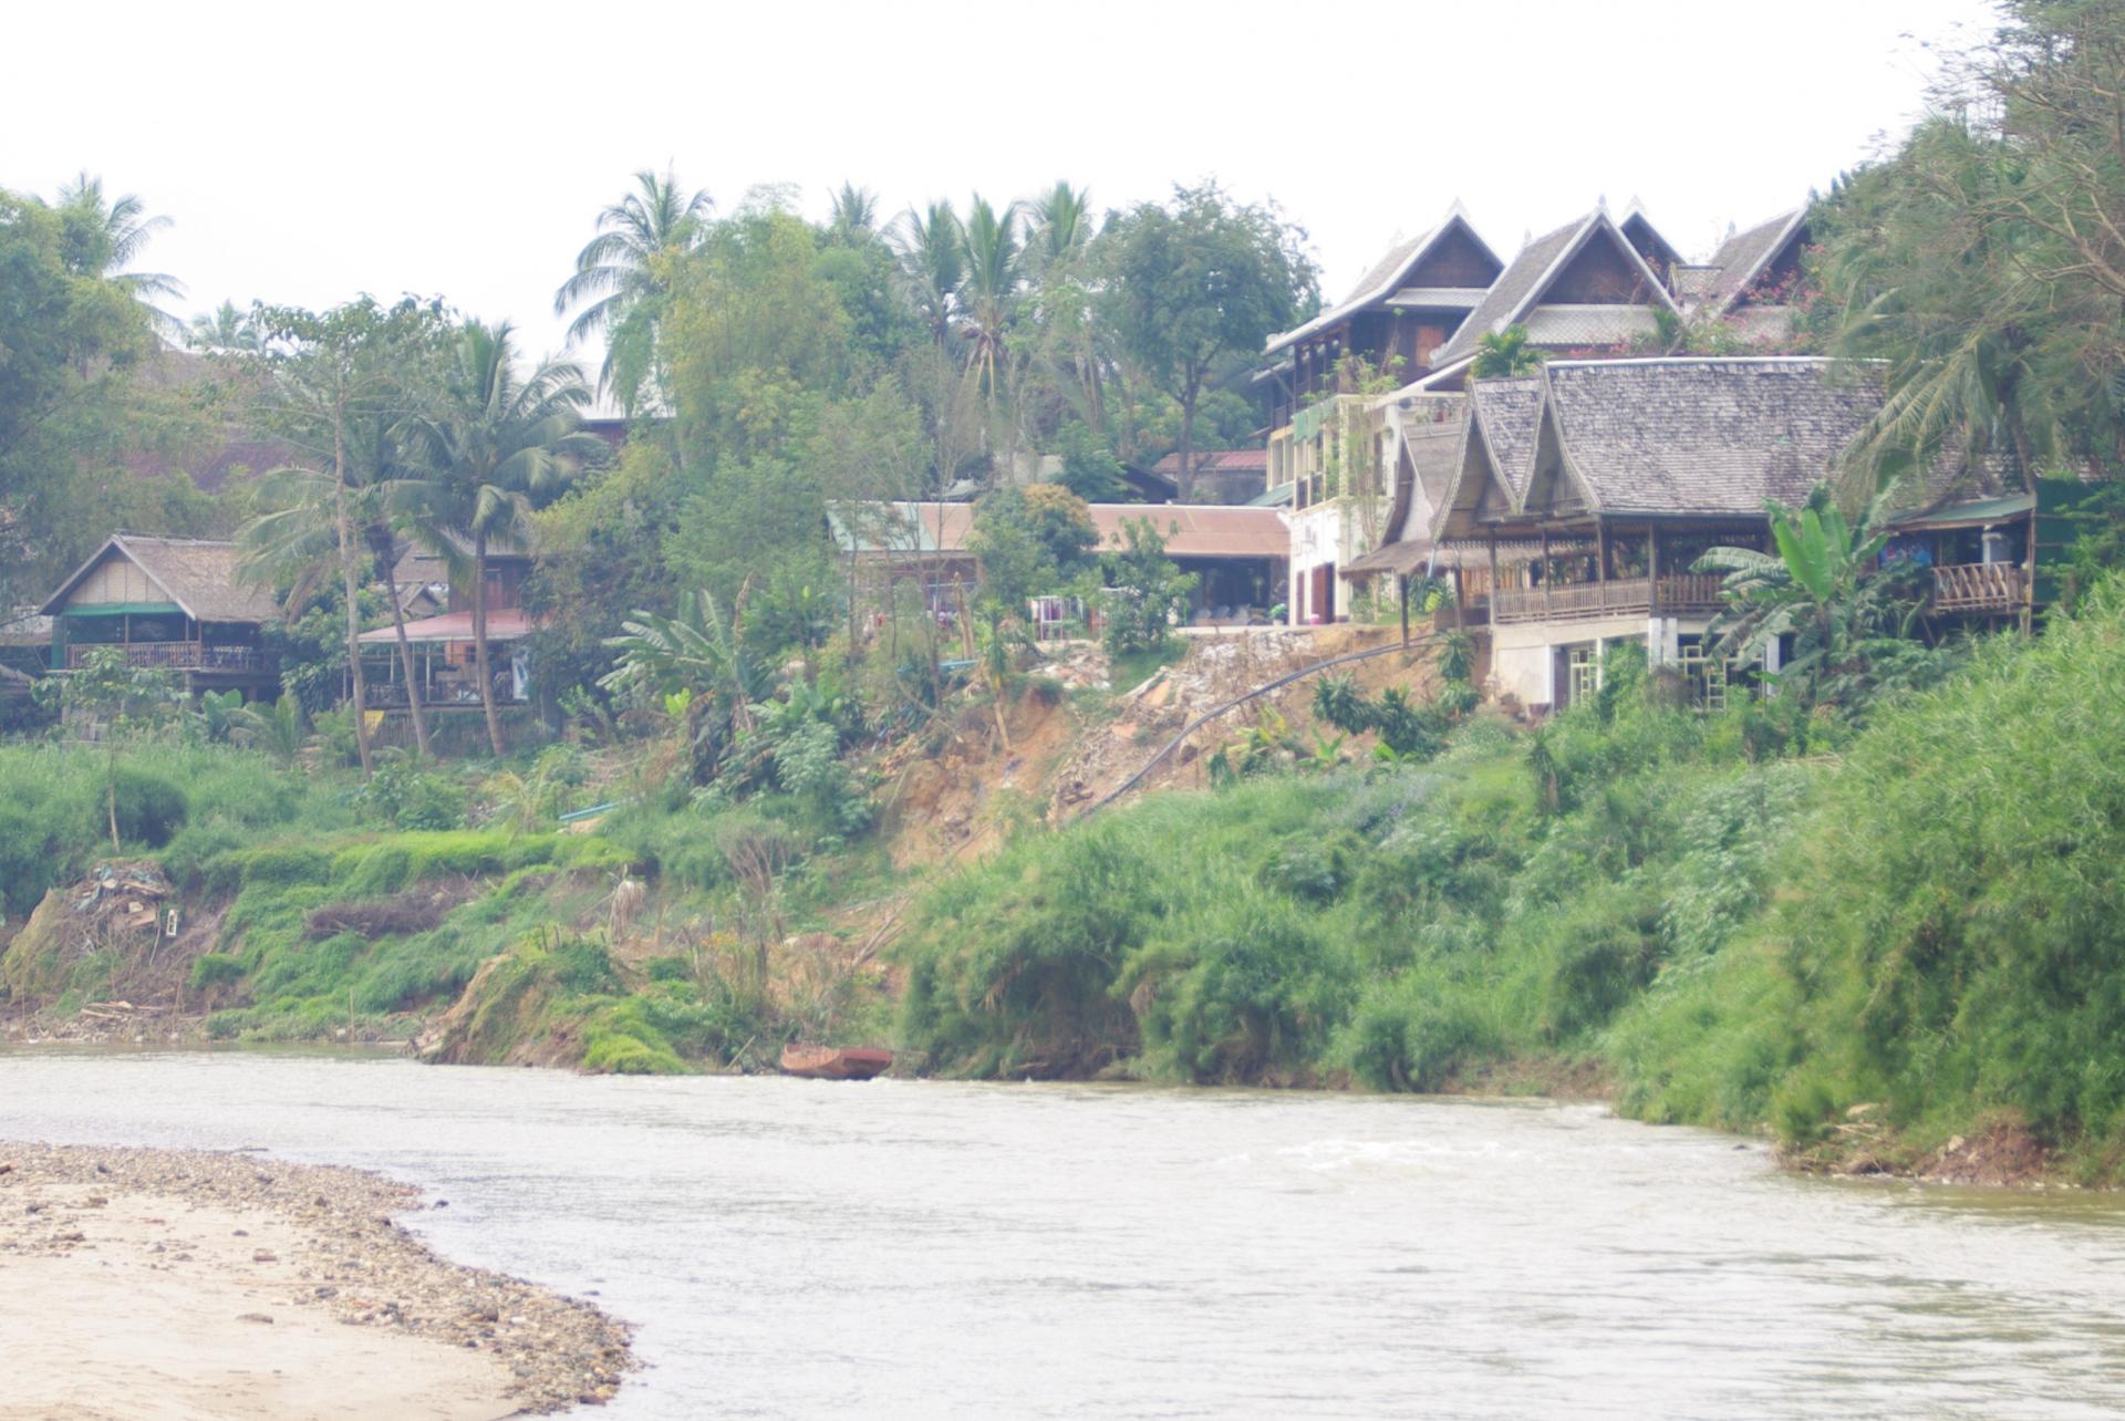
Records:
[[[693,251],[712,208],[706,189],[684,195],[669,168],[663,176],[644,168],[635,172],[635,191],[597,215],[597,236],[576,253],[576,274],[555,293],[552,314],[578,308],[567,327],[570,344],[589,336],[606,338],[599,382],[608,389],[614,372],[629,361],[646,372],[644,353],[654,336],[654,308],[667,280],[659,259]],[[631,389],[618,391],[629,408],[640,389],[638,374]]]

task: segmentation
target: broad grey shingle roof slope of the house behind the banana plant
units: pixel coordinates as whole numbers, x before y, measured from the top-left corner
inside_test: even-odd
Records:
[[[1762,516],[1830,476],[1881,404],[1834,361],[1549,361],[1549,416],[1566,465],[1604,514]],[[1519,491],[1522,499],[1526,497]]]

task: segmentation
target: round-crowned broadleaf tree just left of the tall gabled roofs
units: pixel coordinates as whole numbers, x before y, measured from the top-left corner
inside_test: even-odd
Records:
[[[1103,314],[1122,348],[1182,408],[1182,499],[1194,495],[1194,418],[1232,361],[1320,304],[1305,234],[1216,185],[1139,204],[1107,234]]]

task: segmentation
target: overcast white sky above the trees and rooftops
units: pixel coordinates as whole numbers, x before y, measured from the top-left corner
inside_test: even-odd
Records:
[[[1341,295],[1460,198],[1500,255],[1640,198],[1685,255],[1910,125],[1985,0],[23,4],[0,185],[76,170],[176,227],[181,312],[444,295],[557,348],[635,168],[718,206],[854,178],[886,212],[1056,178],[1275,198]],[[595,355],[593,355],[595,359]]]

